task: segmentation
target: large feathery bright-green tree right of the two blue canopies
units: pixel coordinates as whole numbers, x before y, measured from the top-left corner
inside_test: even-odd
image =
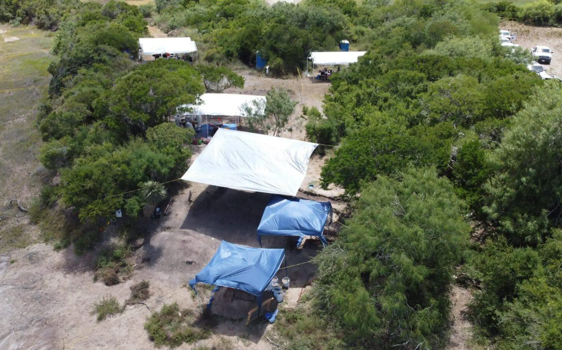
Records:
[[[452,269],[470,231],[451,183],[434,169],[408,171],[400,182],[379,176],[354,209],[316,258],[319,307],[355,346],[442,346]]]

